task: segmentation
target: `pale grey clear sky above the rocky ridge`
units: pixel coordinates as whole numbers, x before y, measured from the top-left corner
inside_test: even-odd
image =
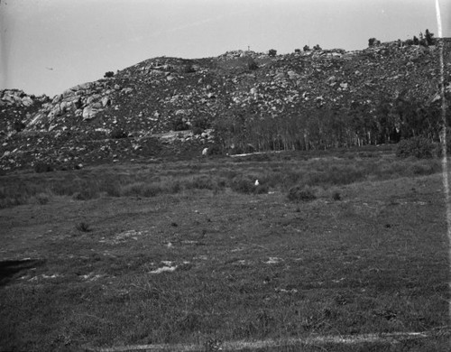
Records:
[[[0,88],[54,96],[159,56],[361,50],[428,29],[451,0],[0,0]]]

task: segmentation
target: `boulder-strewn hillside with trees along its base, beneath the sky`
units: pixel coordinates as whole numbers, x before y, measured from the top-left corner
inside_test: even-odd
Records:
[[[450,94],[451,41],[443,41]],[[214,145],[242,153],[437,138],[439,73],[437,46],[388,42],[155,58],[53,98],[3,90],[0,169],[189,157]]]

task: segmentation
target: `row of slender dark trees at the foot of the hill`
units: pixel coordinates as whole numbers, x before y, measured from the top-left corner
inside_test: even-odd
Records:
[[[382,97],[376,104],[354,101],[346,107],[293,108],[275,115],[251,104],[229,109],[213,125],[219,146],[230,153],[324,150],[398,143],[413,136],[437,142],[441,126],[437,102],[412,102],[406,97]]]

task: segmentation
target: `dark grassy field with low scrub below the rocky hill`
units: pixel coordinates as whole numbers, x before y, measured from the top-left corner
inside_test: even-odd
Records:
[[[439,171],[365,152],[1,176],[0,350],[429,331],[241,350],[447,351]]]

